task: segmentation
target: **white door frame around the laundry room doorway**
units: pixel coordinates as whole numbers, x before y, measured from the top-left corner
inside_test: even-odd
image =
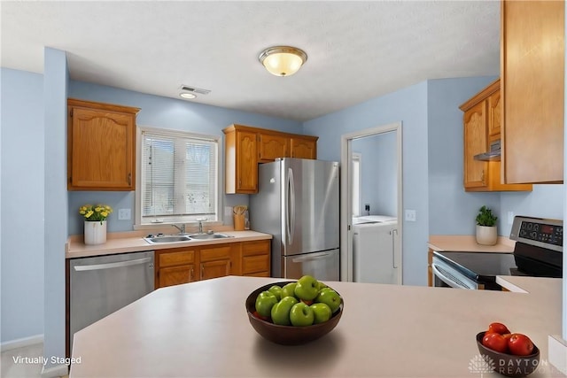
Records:
[[[371,127],[360,131],[355,131],[350,134],[341,135],[340,142],[340,281],[353,282],[353,219],[352,214],[352,194],[351,194],[351,181],[352,181],[352,147],[353,139],[361,138],[364,136],[379,135],[387,132],[394,131],[396,133],[396,155],[398,165],[398,238],[400,262],[400,275],[399,284],[402,283],[402,226],[403,226],[403,190],[402,190],[402,138],[401,138],[401,121],[391,123],[384,126]]]

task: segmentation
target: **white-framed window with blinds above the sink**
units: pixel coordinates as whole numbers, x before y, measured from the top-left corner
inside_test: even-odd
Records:
[[[219,220],[219,140],[142,129],[138,224]]]

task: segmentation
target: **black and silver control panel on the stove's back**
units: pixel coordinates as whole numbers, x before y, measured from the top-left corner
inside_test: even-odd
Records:
[[[563,251],[563,220],[515,217],[510,239]]]

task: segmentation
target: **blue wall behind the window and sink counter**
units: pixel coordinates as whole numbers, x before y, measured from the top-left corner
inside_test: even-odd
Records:
[[[222,129],[232,123],[273,128],[295,134],[302,132],[302,124],[293,120],[282,120],[251,112],[191,103],[181,99],[152,96],[82,81],[70,82],[69,97],[141,108],[136,118],[138,126],[170,128],[221,137],[224,136]],[[221,141],[223,146],[224,139],[222,138]],[[221,180],[224,180],[223,148],[221,148],[221,154],[219,172],[221,172]],[[78,210],[83,204],[92,203],[110,204],[115,210],[108,219],[109,232],[131,231],[135,222],[135,199],[135,192],[69,192],[69,235],[82,234],[84,220]],[[237,204],[248,204],[248,196],[222,196],[221,209],[222,206]],[[118,209],[122,208],[132,209],[132,220],[118,220]],[[231,217],[225,223],[231,224]]]

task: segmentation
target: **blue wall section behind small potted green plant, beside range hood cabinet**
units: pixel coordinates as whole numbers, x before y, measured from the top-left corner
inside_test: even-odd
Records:
[[[464,191],[462,111],[459,109],[495,79],[491,76],[428,82],[430,235],[473,235],[478,209],[483,204],[500,213],[500,193]]]

